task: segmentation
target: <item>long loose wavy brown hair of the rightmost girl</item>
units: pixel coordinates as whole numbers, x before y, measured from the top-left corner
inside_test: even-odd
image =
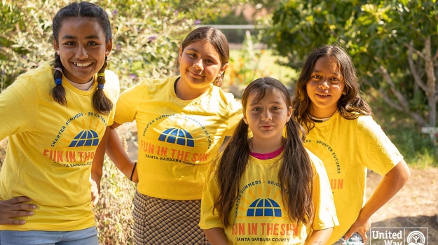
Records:
[[[346,119],[355,119],[360,115],[373,116],[368,103],[360,97],[360,86],[357,82],[355,66],[350,55],[339,45],[324,45],[313,50],[309,55],[296,82],[295,97],[292,100],[295,120],[305,126],[308,131],[315,125],[310,119],[312,102],[308,97],[306,84],[312,76],[317,59],[324,56],[334,59],[338,63],[345,83],[345,95],[341,96],[337,104],[339,114]]]

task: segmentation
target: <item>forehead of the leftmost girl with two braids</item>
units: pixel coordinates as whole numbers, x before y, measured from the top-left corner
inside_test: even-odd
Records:
[[[95,18],[70,17],[62,21],[59,36],[100,36],[104,37],[104,31]]]

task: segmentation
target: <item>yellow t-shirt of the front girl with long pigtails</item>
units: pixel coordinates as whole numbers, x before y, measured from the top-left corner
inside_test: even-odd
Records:
[[[283,207],[278,171],[283,153],[270,160],[250,157],[245,174],[240,181],[235,209],[228,218],[231,227],[224,229],[228,245],[231,244],[304,244],[313,230],[338,225],[329,180],[322,165],[313,153],[313,204],[315,218],[310,227],[290,221]],[[278,164],[275,164],[278,162]],[[201,202],[200,228],[223,228],[214,201],[219,196],[215,165],[209,170]],[[226,178],[226,177],[224,177]]]

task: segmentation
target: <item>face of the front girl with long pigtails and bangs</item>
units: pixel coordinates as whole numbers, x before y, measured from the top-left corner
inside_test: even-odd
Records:
[[[287,106],[282,94],[277,90],[266,92],[265,97],[256,102],[254,94],[249,94],[243,120],[252,130],[253,142],[281,140],[286,123],[290,120],[292,107]]]

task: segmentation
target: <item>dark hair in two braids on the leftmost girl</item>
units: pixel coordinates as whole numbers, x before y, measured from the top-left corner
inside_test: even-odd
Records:
[[[67,18],[71,17],[89,17],[89,18],[95,18],[95,21],[99,23],[100,27],[102,27],[102,30],[105,34],[105,41],[108,44],[111,40],[112,33],[111,33],[111,25],[109,24],[109,19],[107,13],[103,10],[103,8],[100,8],[99,6],[96,6],[93,3],[88,3],[85,1],[82,1],[81,3],[71,3],[64,8],[61,8],[55,17],[53,18],[53,38],[57,43],[58,41],[58,34],[60,33],[60,29],[62,27],[63,21]],[[61,57],[55,52],[55,61],[53,62],[54,67],[60,67],[64,70],[64,66],[61,62]],[[107,57],[105,57],[105,62],[102,66],[102,68],[97,73],[104,73],[105,69],[107,68]],[[55,73],[53,74],[53,78],[56,80],[57,78],[62,79],[62,72],[55,70]],[[105,84],[105,77],[104,76],[97,76],[97,83],[98,84]],[[67,98],[65,97],[65,89],[62,86],[62,84],[57,84],[55,87],[53,87],[53,90],[51,92],[53,99],[55,102],[62,104],[63,106],[67,106]],[[95,111],[102,113],[102,114],[109,114],[111,112],[111,109],[113,108],[113,103],[110,99],[107,98],[107,96],[104,93],[103,88],[97,88],[96,92],[93,94],[93,107]]]

